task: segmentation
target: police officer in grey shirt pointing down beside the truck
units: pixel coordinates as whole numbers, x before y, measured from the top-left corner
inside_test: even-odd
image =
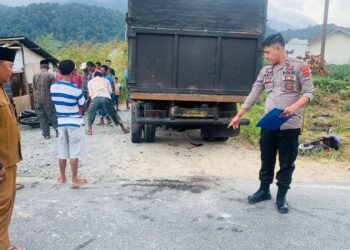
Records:
[[[260,188],[253,195],[248,196],[250,204],[271,199],[270,184],[273,182],[278,152],[280,169],[276,174],[278,186],[276,205],[280,213],[289,211],[286,194],[290,188],[298,154],[301,108],[314,96],[314,86],[308,65],[300,60],[289,58],[284,46],[284,38],[279,33],[267,37],[262,42],[265,57],[270,64],[260,71],[242,109],[228,126],[238,128],[241,117],[251,109],[264,90],[266,91],[265,112],[280,108],[283,110],[281,117],[291,117],[278,130],[261,129]]]

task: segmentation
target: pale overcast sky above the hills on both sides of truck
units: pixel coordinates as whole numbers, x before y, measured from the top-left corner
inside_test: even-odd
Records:
[[[16,6],[40,2],[70,2],[71,0],[0,0],[1,4]],[[77,0],[76,0],[77,1]],[[94,0],[105,7],[127,0]],[[215,0],[213,0],[215,1]],[[83,2],[83,1],[82,1]],[[276,19],[297,28],[323,22],[325,0],[269,0],[269,19]],[[124,5],[126,6],[126,5]],[[123,12],[125,12],[124,10]],[[350,0],[330,0],[329,23],[350,27]]]

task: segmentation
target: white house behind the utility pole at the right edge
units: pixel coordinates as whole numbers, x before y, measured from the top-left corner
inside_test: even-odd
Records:
[[[311,54],[321,54],[321,38],[310,39],[307,50]],[[350,64],[350,32],[336,28],[327,33],[325,60],[327,64]]]

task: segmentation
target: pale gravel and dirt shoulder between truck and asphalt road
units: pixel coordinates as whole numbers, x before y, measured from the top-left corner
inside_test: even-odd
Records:
[[[120,112],[120,115],[130,126],[130,113]],[[19,164],[19,176],[55,179],[58,175],[56,139],[47,141],[40,134],[38,129],[22,130],[24,160]],[[122,134],[120,128],[95,126],[94,135],[87,137],[87,143],[89,155],[81,161],[80,172],[92,181],[181,176],[258,180],[258,149],[237,144],[235,138],[224,143],[207,143],[201,140],[199,131],[178,133],[160,128],[155,143],[132,144],[130,135]],[[293,181],[348,183],[350,166],[331,160],[299,158]]]

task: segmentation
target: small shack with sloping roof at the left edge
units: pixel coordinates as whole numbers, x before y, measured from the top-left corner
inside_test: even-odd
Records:
[[[16,50],[13,76],[16,76],[26,89],[26,95],[14,97],[17,112],[33,108],[33,77],[40,72],[40,61],[50,62],[50,71],[56,68],[58,60],[26,37],[0,38],[0,46]]]

